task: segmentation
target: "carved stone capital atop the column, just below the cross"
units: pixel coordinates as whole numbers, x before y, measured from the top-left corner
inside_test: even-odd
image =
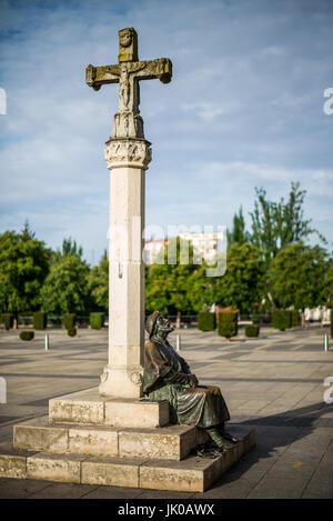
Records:
[[[144,139],[110,139],[105,143],[104,159],[108,168],[148,169],[151,161],[151,143]]]

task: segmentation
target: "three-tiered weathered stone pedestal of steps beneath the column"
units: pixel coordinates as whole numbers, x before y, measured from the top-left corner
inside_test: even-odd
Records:
[[[170,425],[168,402],[103,399],[97,388],[49,402],[49,417],[14,425],[0,443],[0,477],[203,492],[255,444],[250,427],[218,458],[191,451],[205,441],[193,425]]]

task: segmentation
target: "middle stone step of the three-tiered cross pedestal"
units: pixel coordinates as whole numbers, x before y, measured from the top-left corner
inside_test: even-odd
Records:
[[[182,460],[198,444],[196,429],[169,425],[155,429],[123,429],[107,425],[50,423],[49,417],[18,423],[13,447],[52,453],[134,457]]]

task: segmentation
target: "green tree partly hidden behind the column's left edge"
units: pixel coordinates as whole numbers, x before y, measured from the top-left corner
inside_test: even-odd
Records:
[[[88,275],[88,288],[91,297],[91,307],[105,311],[109,309],[109,259],[104,251],[98,265],[94,265]]]

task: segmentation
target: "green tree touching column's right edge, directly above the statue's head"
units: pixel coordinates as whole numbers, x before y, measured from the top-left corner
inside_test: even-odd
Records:
[[[168,264],[168,248],[176,249],[176,263]],[[145,279],[145,309],[159,310],[165,314],[173,314],[178,311],[190,311],[191,300],[189,289],[191,275],[196,269],[193,264],[193,247],[189,247],[189,263],[181,264],[182,248],[186,248],[186,241],[179,238],[170,239],[168,248],[161,252],[157,263],[148,267]]]

